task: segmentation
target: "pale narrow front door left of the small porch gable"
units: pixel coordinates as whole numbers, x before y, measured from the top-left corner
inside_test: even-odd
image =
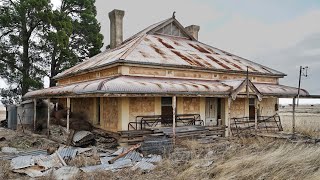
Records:
[[[206,98],[206,126],[217,126],[217,99]]]

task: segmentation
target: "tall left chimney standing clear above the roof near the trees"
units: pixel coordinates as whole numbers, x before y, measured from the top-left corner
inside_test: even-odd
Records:
[[[123,41],[123,16],[124,11],[114,9],[109,12],[110,19],[110,48],[117,47]]]

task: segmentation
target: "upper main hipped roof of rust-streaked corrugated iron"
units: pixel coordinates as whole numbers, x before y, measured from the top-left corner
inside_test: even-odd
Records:
[[[116,62],[156,66],[187,66],[215,71],[236,72],[245,72],[248,66],[250,73],[285,76],[285,74],[279,71],[206,45],[193,38],[187,39],[159,35],[154,32],[157,27],[169,22],[180,24],[176,19],[169,18],[151,25],[125,40],[119,47],[106,50],[59,73],[55,78],[104,67]]]

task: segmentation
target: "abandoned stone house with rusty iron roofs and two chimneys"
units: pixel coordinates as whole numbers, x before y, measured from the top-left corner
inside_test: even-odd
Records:
[[[92,125],[115,132],[172,126],[184,115],[197,116],[193,124],[228,126],[231,118],[273,116],[279,97],[297,95],[279,84],[284,73],[198,41],[200,27],[183,27],[174,16],[123,41],[123,16],[109,13],[109,49],[24,98],[85,112]],[[142,123],[148,118],[157,123]]]

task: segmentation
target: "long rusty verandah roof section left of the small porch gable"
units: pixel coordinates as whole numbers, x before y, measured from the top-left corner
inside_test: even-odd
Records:
[[[37,96],[80,95],[94,93],[179,93],[228,94],[231,87],[217,80],[191,80],[154,77],[119,76],[66,86],[57,86],[27,93],[25,98]]]

